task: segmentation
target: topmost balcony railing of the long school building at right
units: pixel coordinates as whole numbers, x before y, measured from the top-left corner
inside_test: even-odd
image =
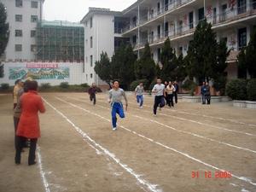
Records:
[[[239,10],[243,10],[243,12],[239,12]],[[256,3],[250,3],[245,10],[240,7],[237,9],[227,10],[224,13],[221,13],[219,15],[209,16],[207,17],[207,20],[208,22],[212,23],[212,26],[217,27],[218,25],[223,24],[224,22],[239,20],[249,15],[256,15]],[[139,44],[133,44],[134,49],[143,48],[144,44],[146,44],[147,42],[151,45],[158,44],[158,43],[164,42],[167,37],[173,39],[173,38],[182,37],[183,35],[186,35],[186,34],[191,34],[195,32],[195,26],[197,26],[200,21],[201,20],[195,21],[193,23],[183,24],[182,26],[177,26],[172,31],[161,32],[160,34],[156,34],[153,36],[148,35],[148,38],[142,39]]]

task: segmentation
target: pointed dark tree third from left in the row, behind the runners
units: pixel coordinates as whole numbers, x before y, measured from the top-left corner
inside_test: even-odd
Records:
[[[143,55],[135,62],[135,75],[137,79],[148,79],[149,84],[155,77],[155,63],[151,56],[149,44],[145,44]]]

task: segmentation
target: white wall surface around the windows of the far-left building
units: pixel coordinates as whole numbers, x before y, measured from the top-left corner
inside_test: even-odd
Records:
[[[36,38],[31,38],[31,30],[36,30],[37,23],[31,22],[31,15],[38,15],[42,19],[42,1],[38,1],[38,9],[31,7],[32,0],[23,0],[22,8],[15,6],[15,0],[0,0],[7,9],[7,22],[9,22],[9,43],[5,50],[7,60],[34,60],[35,54],[31,45],[36,44]],[[15,21],[15,15],[22,15],[22,21]],[[15,30],[22,30],[22,37],[15,37]],[[15,44],[22,44],[22,51],[15,51]]]

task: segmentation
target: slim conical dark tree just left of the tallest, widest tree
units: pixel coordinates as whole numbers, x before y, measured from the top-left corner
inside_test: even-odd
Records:
[[[170,38],[167,38],[160,54],[162,69],[160,78],[165,80],[176,79],[175,69],[177,68],[177,57],[175,50],[171,47]]]

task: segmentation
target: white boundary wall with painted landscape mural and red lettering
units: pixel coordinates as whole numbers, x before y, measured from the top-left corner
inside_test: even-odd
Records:
[[[0,84],[14,85],[16,79],[26,80],[28,77],[38,81],[38,84],[49,83],[59,85],[84,84],[84,63],[72,62],[3,62],[4,77]]]

